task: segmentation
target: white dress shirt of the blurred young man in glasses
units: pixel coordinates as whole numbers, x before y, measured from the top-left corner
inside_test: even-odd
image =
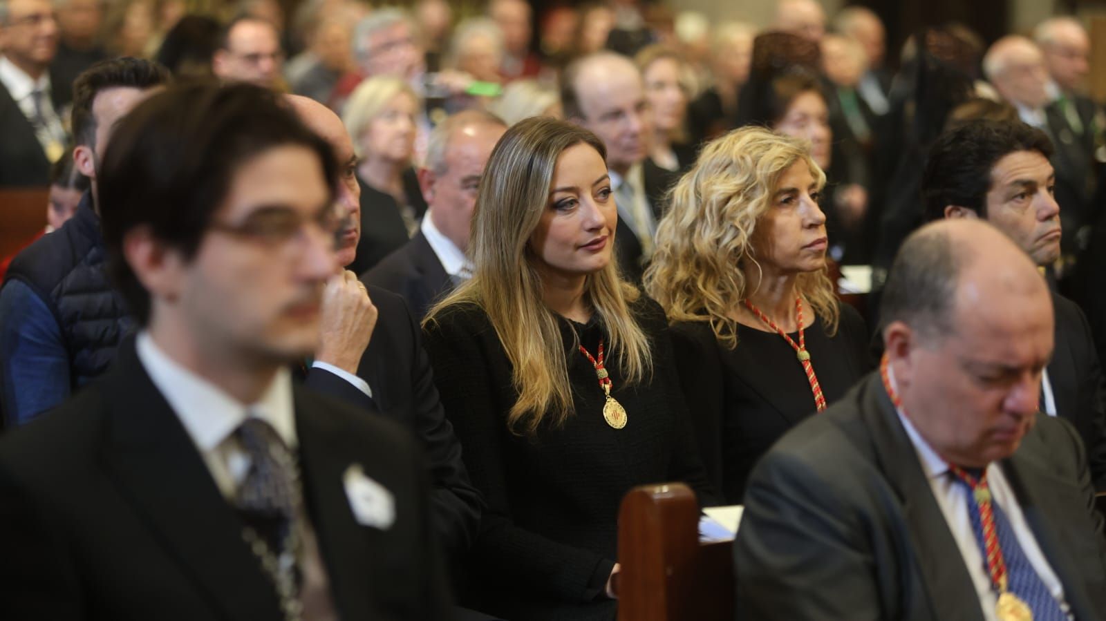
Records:
[[[257,402],[246,404],[169,358],[149,333],[140,333],[135,346],[143,368],[180,419],[219,492],[228,502],[233,503],[238,486],[250,470],[250,456],[234,438],[234,431],[247,417],[268,422],[289,450],[296,452],[299,439],[292,402],[292,376],[286,368],[276,372]],[[300,554],[303,570],[300,599],[306,617],[320,621],[336,620],[319,543],[302,506],[296,523],[303,544]]]

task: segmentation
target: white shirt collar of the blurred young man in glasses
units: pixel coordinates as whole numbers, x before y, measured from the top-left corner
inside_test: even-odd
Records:
[[[149,379],[200,452],[212,451],[227,440],[246,420],[247,412],[271,424],[284,443],[295,449],[292,377],[286,368],[276,372],[255,403],[246,404],[171,359],[154,343],[149,333],[144,330],[138,335],[136,348]]]

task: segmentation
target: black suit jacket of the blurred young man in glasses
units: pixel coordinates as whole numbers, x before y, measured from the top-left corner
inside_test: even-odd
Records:
[[[397,425],[294,389],[307,513],[343,619],[448,618],[422,457]],[[389,490],[386,530],[354,518],[353,464]],[[124,346],[101,379],[0,441],[0,618],[279,620],[191,438]]]

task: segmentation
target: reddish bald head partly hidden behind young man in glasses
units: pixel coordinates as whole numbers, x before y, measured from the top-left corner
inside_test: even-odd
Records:
[[[342,217],[338,232],[338,263],[343,266],[356,259],[361,241],[361,185],[357,183],[357,156],[353,140],[338,115],[319,102],[301,95],[284,95],[284,101],[309,129],[326,140],[334,149],[334,158],[342,167],[337,188],[337,209]]]

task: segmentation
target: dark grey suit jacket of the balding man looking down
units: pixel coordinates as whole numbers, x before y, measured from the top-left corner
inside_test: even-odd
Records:
[[[1039,415],[1001,465],[1075,618],[1106,618],[1103,517],[1078,435]],[[741,619],[983,620],[876,372],[753,471],[734,557]]]

